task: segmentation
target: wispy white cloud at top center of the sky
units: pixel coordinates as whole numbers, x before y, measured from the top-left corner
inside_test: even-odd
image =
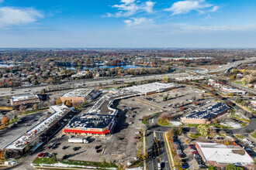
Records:
[[[122,4],[112,5],[112,8],[117,8],[119,12],[115,14],[106,13],[105,17],[129,17],[139,12],[152,13],[155,2],[140,2],[137,0],[121,0]]]

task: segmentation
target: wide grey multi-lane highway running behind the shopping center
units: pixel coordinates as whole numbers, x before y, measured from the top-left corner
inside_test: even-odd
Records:
[[[150,79],[162,79],[163,76],[167,76],[167,77],[175,77],[175,76],[186,76],[189,75],[189,73],[163,73],[163,74],[157,74],[157,75],[149,75],[149,76],[133,76],[133,77],[122,77],[122,78],[118,78],[118,77],[112,77],[111,79],[108,78],[107,80],[102,80],[102,79],[98,79],[98,80],[85,80],[85,81],[73,81],[73,82],[69,82],[69,83],[63,83],[63,84],[58,84],[56,86],[65,86],[65,85],[70,85],[70,84],[74,84],[74,87],[78,87],[79,84],[81,83],[85,83],[85,87],[95,87],[96,85],[98,85],[99,83],[102,83],[102,85],[106,85],[106,84],[111,84],[113,80],[115,81],[123,81],[124,83],[129,83],[129,82],[133,82],[133,81],[140,81],[140,80],[150,80]],[[54,85],[50,85],[50,86],[54,86]],[[28,87],[28,88],[24,88],[24,89],[16,89],[16,90],[12,90],[11,88],[3,88],[1,89],[0,92],[0,97],[5,97],[5,96],[10,96],[10,95],[18,95],[18,94],[22,94],[22,93],[40,93],[41,90],[46,89],[47,87]],[[12,91],[11,91],[12,90]]]

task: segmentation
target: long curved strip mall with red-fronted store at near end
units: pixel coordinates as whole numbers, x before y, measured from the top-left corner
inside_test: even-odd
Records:
[[[174,88],[175,85],[170,83],[148,83],[118,90],[109,90],[109,93],[102,96],[86,114],[81,115],[81,117],[74,117],[64,128],[63,133],[99,136],[111,134],[118,118],[118,110],[113,107],[116,100],[144,94],[148,95]]]

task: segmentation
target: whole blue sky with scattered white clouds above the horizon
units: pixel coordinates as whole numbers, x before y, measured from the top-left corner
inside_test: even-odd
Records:
[[[256,48],[254,0],[0,0],[0,48]]]

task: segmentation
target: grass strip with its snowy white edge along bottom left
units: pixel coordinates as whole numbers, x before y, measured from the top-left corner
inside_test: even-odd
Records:
[[[82,162],[74,160],[54,160],[54,158],[36,158],[32,164],[33,168],[90,168],[90,169],[118,169],[118,166],[111,162]]]

